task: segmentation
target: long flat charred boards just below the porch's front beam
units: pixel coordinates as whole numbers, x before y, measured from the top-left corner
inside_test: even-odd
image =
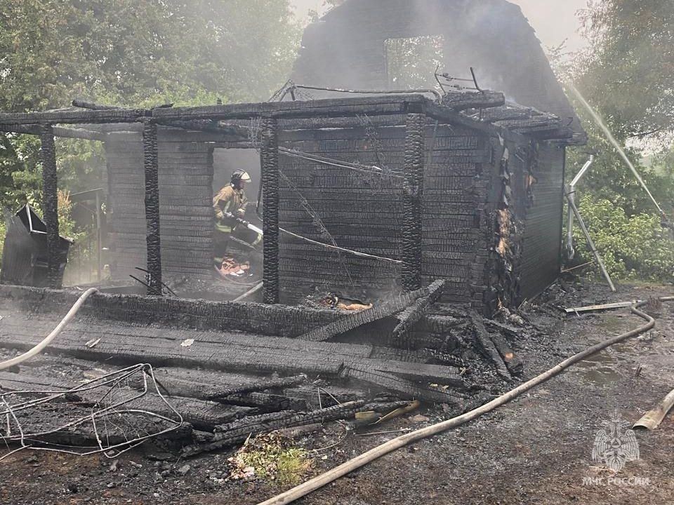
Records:
[[[0,321],[0,345],[28,349],[39,342],[55,321],[9,314]],[[90,339],[100,342],[89,348]],[[190,346],[181,346],[194,339]],[[303,342],[246,333],[216,333],[148,328],[100,321],[76,321],[51,345],[51,351],[107,363],[151,363],[204,367],[214,370],[352,378],[395,391],[404,397],[461,405],[454,393],[429,382],[463,389],[456,368],[371,358],[373,347],[330,342]]]

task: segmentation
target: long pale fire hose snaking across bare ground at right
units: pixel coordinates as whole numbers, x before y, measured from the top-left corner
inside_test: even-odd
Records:
[[[662,302],[672,302],[674,301],[674,297],[663,297],[660,298],[660,300]],[[392,440],[389,440],[388,442],[383,443],[382,445],[378,445],[377,447],[374,447],[373,449],[364,452],[363,454],[360,454],[354,459],[350,459],[348,462],[336,466],[335,468],[326,471],[325,473],[322,473],[321,475],[312,478],[303,484],[293,487],[291,490],[288,490],[286,492],[278,494],[275,497],[267,499],[266,501],[263,501],[258,505],[289,504],[292,501],[295,501],[296,499],[301,498],[309,494],[310,492],[315,491],[320,487],[323,487],[324,485],[333,482],[333,480],[345,476],[347,473],[359,469],[361,466],[365,466],[366,464],[373,462],[375,459],[378,459],[384,456],[385,454],[388,454],[390,452],[399,449],[400,447],[404,447],[409,443],[414,443],[417,440],[421,440],[423,438],[428,438],[430,436],[437,435],[437,433],[442,433],[443,431],[447,431],[448,429],[460,426],[461,424],[464,424],[468,421],[472,421],[477,417],[487,414],[487,412],[491,412],[492,410],[501,407],[502,405],[505,405],[505,403],[510,402],[510,400],[517,398],[517,396],[520,396],[522,393],[529,391],[529,389],[532,389],[538,386],[539,384],[546,382],[548,379],[555,377],[555,375],[559,375],[561,372],[569,368],[571,365],[574,365],[579,361],[583,361],[583,359],[588,358],[589,356],[592,356],[593,354],[596,354],[597,352],[602,351],[603,349],[606,349],[609,346],[622,342],[623,340],[626,340],[628,338],[636,337],[637,335],[640,335],[643,332],[647,332],[648,330],[654,327],[655,320],[648,314],[645,314],[644,312],[639,310],[639,307],[642,307],[642,305],[644,305],[645,303],[647,302],[641,302],[635,304],[633,307],[630,307],[630,311],[632,311],[633,314],[636,314],[640,318],[647,321],[645,325],[642,325],[639,328],[636,328],[635,330],[630,330],[628,332],[621,333],[621,335],[616,335],[616,337],[612,337],[610,339],[605,340],[604,342],[600,342],[591,347],[588,347],[588,349],[585,349],[584,351],[581,351],[578,354],[575,354],[574,356],[565,359],[561,363],[555,365],[553,368],[550,368],[550,370],[541,373],[541,375],[537,375],[536,377],[530,379],[527,382],[524,382],[524,384],[521,384],[520,386],[517,386],[515,389],[508,391],[508,393],[505,393],[502,396],[499,396],[498,398],[494,398],[494,400],[491,400],[489,403],[485,403],[481,407],[478,407],[474,410],[470,410],[470,412],[465,412],[465,414],[459,415],[457,417],[447,419],[447,421],[432,424],[431,426],[426,426],[425,428],[421,428],[416,431],[411,431],[410,433],[405,433],[402,436],[393,438]]]

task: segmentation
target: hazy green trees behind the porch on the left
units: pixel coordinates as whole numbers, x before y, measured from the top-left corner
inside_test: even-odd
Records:
[[[0,0],[0,112],[267,100],[299,36],[289,0]],[[67,189],[100,184],[94,145],[59,141]],[[39,201],[38,148],[0,133],[0,208]]]

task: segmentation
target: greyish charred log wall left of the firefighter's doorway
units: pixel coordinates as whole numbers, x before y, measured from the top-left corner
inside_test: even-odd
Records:
[[[161,266],[166,275],[210,276],[213,158],[209,144],[191,133],[159,129]],[[113,278],[145,268],[143,141],[139,134],[111,134],[106,142],[110,268]]]

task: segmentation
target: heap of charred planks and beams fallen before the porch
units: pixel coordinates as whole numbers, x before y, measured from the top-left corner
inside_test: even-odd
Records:
[[[443,404],[445,412],[458,414],[480,402],[480,391],[493,389],[495,381],[511,382],[522,373],[522,362],[508,343],[518,329],[438,303],[440,292],[441,281],[371,309],[343,311],[333,322],[294,338],[83,316],[67,325],[51,345],[50,354],[68,358],[40,356],[20,370],[0,372],[0,395],[32,391],[28,396],[34,400],[57,391],[58,398],[68,401],[49,405],[54,412],[105,410],[112,403],[117,413],[149,412],[163,422],[175,419],[171,417],[175,412],[180,429],[173,426],[169,434],[158,426],[147,436],[178,447],[183,456],[277,429],[354,421],[357,414],[371,412],[379,419],[412,400]],[[5,308],[0,303],[6,314],[0,321],[1,348],[25,351],[53,328],[48,314]],[[351,343],[354,340],[367,343]],[[58,376],[44,373],[64,359],[77,362],[79,368]],[[107,367],[111,372],[112,366],[151,369],[154,389],[147,388],[147,374],[97,383],[95,394],[83,389],[91,381],[92,369]],[[43,436],[32,443],[63,443],[62,433],[53,434],[59,426],[50,426],[49,417],[41,416],[46,423],[40,431]],[[133,431],[133,417],[129,419],[125,426]],[[98,439],[91,429],[85,434],[79,443]],[[110,435],[111,440],[128,437],[124,429]],[[76,439],[69,436],[66,441]]]

